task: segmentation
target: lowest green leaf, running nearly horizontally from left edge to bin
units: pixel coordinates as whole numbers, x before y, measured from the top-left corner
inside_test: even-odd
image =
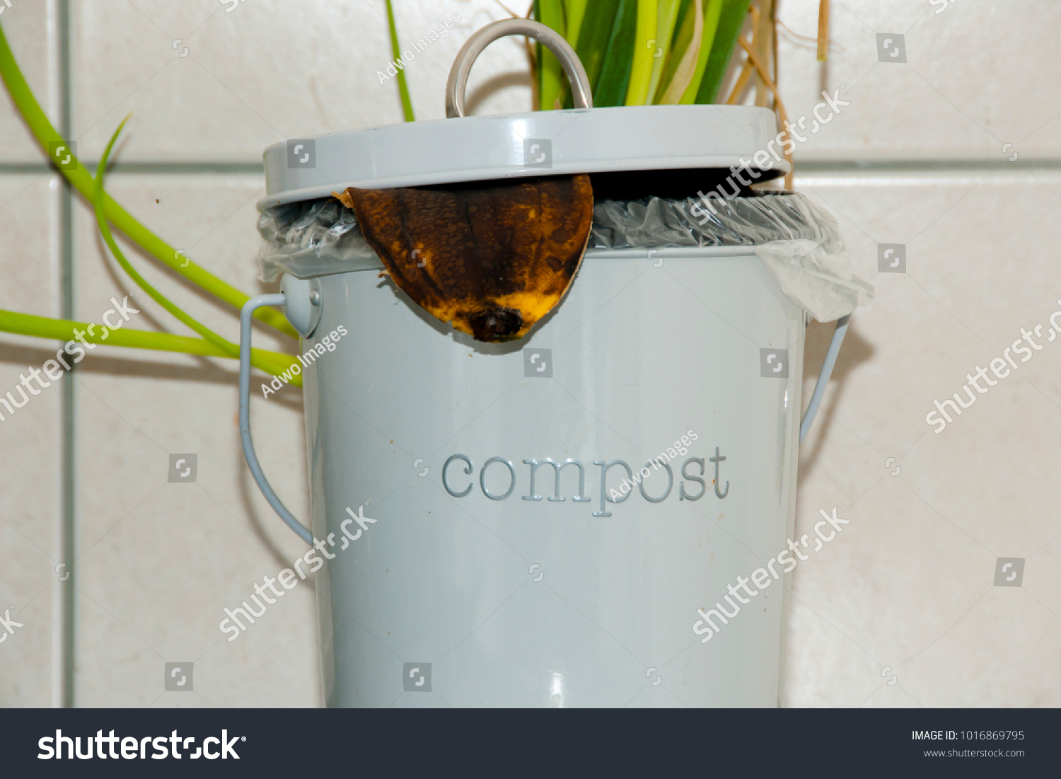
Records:
[[[102,346],[122,346],[133,349],[151,349],[153,351],[179,351],[185,354],[199,354],[203,357],[226,357],[234,359],[232,354],[218,348],[203,339],[192,339],[187,335],[173,335],[168,332],[151,332],[147,330],[134,330],[131,327],[123,327],[120,330],[107,329],[106,335],[103,328],[93,328],[88,332],[87,322],[73,322],[72,319],[53,319],[49,316],[34,316],[23,314],[18,311],[5,311],[0,309],[0,332],[10,332],[17,335],[32,335],[38,339],[49,339],[54,341],[73,341],[76,333],[80,337],[90,344]],[[288,354],[277,351],[266,351],[264,349],[253,349],[251,361],[276,362],[290,361]],[[273,373],[269,370],[268,373]],[[292,384],[302,385],[300,376],[291,379]]]

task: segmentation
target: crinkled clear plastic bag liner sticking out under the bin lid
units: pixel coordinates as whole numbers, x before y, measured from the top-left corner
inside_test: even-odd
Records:
[[[261,279],[382,269],[353,211],[329,197],[271,206],[258,231]],[[781,291],[819,322],[846,316],[873,298],[854,275],[833,217],[800,193],[712,198],[597,201],[590,250],[748,246]]]

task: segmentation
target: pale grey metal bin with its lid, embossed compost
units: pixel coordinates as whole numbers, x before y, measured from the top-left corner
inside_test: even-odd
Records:
[[[711,181],[775,133],[771,112],[723,106],[334,133],[301,139],[313,167],[291,142],[266,152],[260,208],[346,186]],[[330,706],[778,705],[784,577],[726,595],[792,536],[806,313],[752,244],[591,240],[557,309],[504,345],[428,315],[370,254],[277,271],[286,298],[262,299],[285,299],[317,352],[303,397]],[[728,619],[705,639],[697,609],[716,602]]]

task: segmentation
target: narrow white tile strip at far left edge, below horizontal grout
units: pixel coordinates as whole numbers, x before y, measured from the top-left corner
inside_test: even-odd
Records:
[[[59,232],[57,185],[48,174],[0,176],[5,271],[0,309],[37,316],[58,313],[57,243],[52,238]],[[0,335],[0,395],[11,393],[21,402],[15,391],[20,376],[30,376],[30,366],[39,369],[55,348],[44,339]],[[49,382],[29,392],[25,404],[13,414],[0,406],[0,612],[14,608],[24,625],[0,644],[0,706],[51,706],[57,694],[62,585],[54,569],[63,561],[62,388]]]

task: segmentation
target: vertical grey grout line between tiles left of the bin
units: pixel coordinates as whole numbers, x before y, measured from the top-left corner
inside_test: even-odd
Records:
[[[70,0],[59,0],[59,132],[70,137]],[[62,220],[62,317],[74,318],[73,294],[73,192],[70,183],[63,178],[59,214]],[[73,366],[71,366],[73,367]],[[73,378],[73,377],[71,377]],[[74,557],[76,533],[76,472],[75,468],[75,396],[73,381],[63,382],[63,560]],[[71,565],[72,568],[72,565]],[[76,571],[70,571],[69,587],[63,588],[63,708],[74,708],[74,585]]]

